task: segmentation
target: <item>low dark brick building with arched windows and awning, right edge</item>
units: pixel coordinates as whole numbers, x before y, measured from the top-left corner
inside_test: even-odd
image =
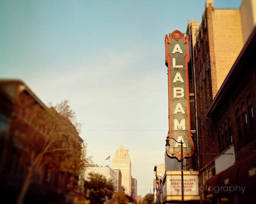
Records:
[[[256,182],[256,28],[208,110],[219,152],[215,175],[204,179],[204,201],[252,203]],[[229,145],[229,142],[231,143]],[[212,191],[217,189],[218,191]]]

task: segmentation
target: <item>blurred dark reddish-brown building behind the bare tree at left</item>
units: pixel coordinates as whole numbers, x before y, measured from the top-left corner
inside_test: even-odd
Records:
[[[42,118],[35,117],[37,113],[33,112],[34,105],[38,105],[40,110],[45,112],[53,111],[49,110],[23,81],[0,80],[0,197],[8,203],[16,203],[29,168],[25,158],[21,157],[22,152],[32,149],[39,151],[43,148],[39,140],[38,143],[33,143],[37,145],[26,148],[17,138],[25,136],[36,141],[48,131],[47,127],[41,125],[42,123],[39,125]],[[81,147],[83,140],[78,136],[75,127],[73,130],[77,145]],[[72,202],[72,198],[67,193],[71,188],[75,188],[76,180],[72,179],[75,175],[54,169],[50,160],[48,163],[42,162],[41,166],[42,168],[34,171],[32,175],[24,202],[37,204]],[[78,180],[78,175],[76,176]]]

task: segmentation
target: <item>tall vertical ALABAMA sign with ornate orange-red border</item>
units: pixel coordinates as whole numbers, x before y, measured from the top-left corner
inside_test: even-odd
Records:
[[[169,132],[181,144],[169,139],[170,149],[167,154],[181,160],[191,157],[195,151],[190,130],[189,87],[188,87],[188,36],[178,30],[165,35],[165,61],[168,67]]]

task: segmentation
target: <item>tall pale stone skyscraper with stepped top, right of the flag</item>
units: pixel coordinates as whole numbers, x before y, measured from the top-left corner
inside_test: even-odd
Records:
[[[112,169],[121,170],[122,186],[125,189],[125,193],[131,195],[132,164],[128,151],[122,145],[116,150],[115,157],[112,161]]]

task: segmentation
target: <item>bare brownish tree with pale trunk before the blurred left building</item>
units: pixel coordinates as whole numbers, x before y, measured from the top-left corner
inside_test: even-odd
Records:
[[[17,199],[17,204],[23,204],[33,175],[40,174],[45,165],[74,174],[76,170],[82,170],[85,163],[81,162],[81,138],[78,135],[81,125],[76,122],[67,100],[45,108],[21,95],[14,113],[14,142],[19,149],[21,165],[26,169]]]

